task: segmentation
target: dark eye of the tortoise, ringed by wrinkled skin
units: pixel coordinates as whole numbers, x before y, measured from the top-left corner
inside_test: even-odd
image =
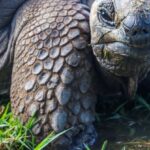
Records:
[[[113,14],[113,12],[107,10],[106,8],[100,8],[98,11],[98,19],[100,22],[104,22],[107,25],[113,27],[115,26]]]

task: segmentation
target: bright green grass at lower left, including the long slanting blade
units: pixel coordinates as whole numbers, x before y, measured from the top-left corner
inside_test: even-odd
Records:
[[[0,109],[0,149],[1,150],[42,150],[49,143],[66,133],[65,130],[59,134],[50,133],[43,141],[36,145],[35,137],[32,134],[32,127],[36,123],[35,118],[23,125],[19,119],[10,112],[8,104],[4,109]]]

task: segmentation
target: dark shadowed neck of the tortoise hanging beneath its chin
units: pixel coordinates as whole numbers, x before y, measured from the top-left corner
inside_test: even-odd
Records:
[[[126,99],[133,99],[135,97],[139,82],[138,75],[133,77],[119,77],[104,68],[100,69],[100,74],[105,85],[105,91],[110,91],[113,95],[120,93]]]

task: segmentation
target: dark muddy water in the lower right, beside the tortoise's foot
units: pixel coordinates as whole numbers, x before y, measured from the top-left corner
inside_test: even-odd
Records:
[[[96,127],[99,137],[91,150],[101,150],[106,140],[105,150],[150,150],[150,120],[146,115],[138,118],[117,118],[116,115],[101,120]]]

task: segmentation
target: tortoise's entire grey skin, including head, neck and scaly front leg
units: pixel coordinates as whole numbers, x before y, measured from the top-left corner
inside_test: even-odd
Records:
[[[12,21],[0,22],[1,94],[11,81],[12,111],[22,122],[38,118],[37,141],[73,127],[53,143],[56,149],[94,144],[96,95],[133,97],[149,72],[149,2],[96,0],[89,26],[91,4],[28,0]]]

